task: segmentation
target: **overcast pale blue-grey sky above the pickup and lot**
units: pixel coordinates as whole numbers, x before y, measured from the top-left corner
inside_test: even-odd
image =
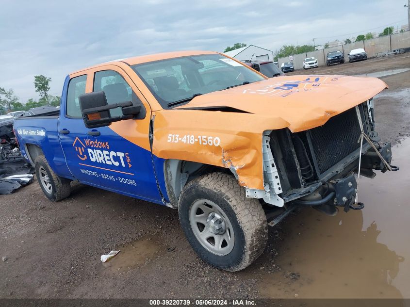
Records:
[[[237,42],[276,50],[407,23],[406,0],[0,0],[0,87],[38,99],[34,75],[61,95],[74,70],[118,58]]]

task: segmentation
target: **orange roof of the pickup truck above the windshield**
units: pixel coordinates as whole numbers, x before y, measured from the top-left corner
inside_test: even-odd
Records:
[[[173,52],[164,52],[164,53],[156,53],[156,54],[148,54],[148,55],[140,55],[140,56],[135,56],[131,58],[126,58],[126,59],[118,59],[114,61],[109,61],[109,62],[104,62],[101,64],[93,65],[90,67],[82,68],[76,71],[73,71],[70,73],[71,74],[76,74],[81,71],[90,69],[90,68],[95,68],[98,66],[102,65],[107,65],[107,64],[116,64],[116,63],[126,63],[128,65],[135,65],[135,64],[141,64],[141,63],[147,63],[147,62],[154,62],[154,61],[159,61],[159,60],[165,60],[165,59],[172,59],[172,58],[178,58],[182,56],[190,56],[190,55],[198,55],[198,54],[212,54],[212,53],[219,53],[215,51],[200,51],[200,50],[187,50],[187,51],[173,51]]]

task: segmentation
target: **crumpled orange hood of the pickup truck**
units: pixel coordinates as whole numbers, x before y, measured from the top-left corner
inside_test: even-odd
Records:
[[[283,119],[293,132],[312,129],[374,97],[387,84],[377,78],[283,76],[197,96],[176,109],[238,110]],[[279,128],[273,128],[279,129]]]

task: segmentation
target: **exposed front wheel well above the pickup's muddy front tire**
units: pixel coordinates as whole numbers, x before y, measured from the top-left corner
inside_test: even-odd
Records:
[[[189,181],[214,172],[232,174],[229,169],[220,166],[167,159],[164,163],[165,186],[172,207],[178,207],[181,191]]]

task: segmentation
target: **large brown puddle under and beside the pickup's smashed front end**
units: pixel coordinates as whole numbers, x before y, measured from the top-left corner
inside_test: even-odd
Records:
[[[410,298],[410,139],[393,147],[397,172],[361,178],[360,211],[304,209],[282,224],[281,272],[261,295],[276,298]]]

